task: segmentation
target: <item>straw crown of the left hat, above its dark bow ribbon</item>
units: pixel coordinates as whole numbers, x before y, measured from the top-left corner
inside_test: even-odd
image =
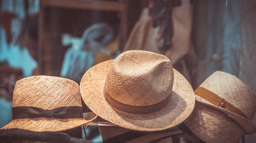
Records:
[[[30,76],[16,82],[13,107],[32,106],[45,110],[82,106],[79,85],[55,76]]]

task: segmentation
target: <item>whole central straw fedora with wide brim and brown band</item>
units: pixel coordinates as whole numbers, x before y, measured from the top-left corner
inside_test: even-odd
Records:
[[[129,50],[90,68],[80,83],[85,104],[99,117],[137,131],[159,131],[184,121],[195,96],[162,54]]]

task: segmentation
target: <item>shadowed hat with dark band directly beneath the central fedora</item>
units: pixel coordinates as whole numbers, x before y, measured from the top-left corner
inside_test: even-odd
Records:
[[[118,126],[99,126],[103,143],[172,143],[172,138],[183,134],[178,128],[158,132],[137,132]]]

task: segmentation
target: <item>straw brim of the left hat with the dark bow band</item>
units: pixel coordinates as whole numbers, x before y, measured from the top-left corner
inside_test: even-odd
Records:
[[[86,119],[82,118],[69,118],[69,119],[53,119],[53,118],[33,118],[33,119],[13,119],[9,124],[5,125],[1,129],[18,128],[23,130],[29,130],[34,132],[45,131],[64,131],[78,126],[82,126],[97,118],[95,114],[88,114]]]

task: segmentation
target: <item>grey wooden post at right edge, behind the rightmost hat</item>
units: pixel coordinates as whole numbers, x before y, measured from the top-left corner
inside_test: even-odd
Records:
[[[243,0],[239,78],[256,93],[256,1]],[[252,120],[256,124],[256,116]],[[254,143],[256,134],[245,136],[246,143]]]

